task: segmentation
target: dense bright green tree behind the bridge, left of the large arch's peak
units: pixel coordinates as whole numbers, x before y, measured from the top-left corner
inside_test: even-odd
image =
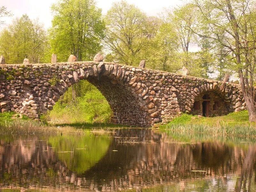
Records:
[[[60,0],[52,12],[50,44],[59,61],[67,61],[70,54],[77,61],[92,60],[101,51],[105,25],[94,0]]]

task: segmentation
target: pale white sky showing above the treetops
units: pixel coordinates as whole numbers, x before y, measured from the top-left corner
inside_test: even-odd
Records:
[[[57,0],[0,0],[0,6],[5,6],[11,11],[12,18],[3,18],[6,24],[10,24],[15,17],[21,17],[27,13],[30,19],[39,18],[44,23],[45,28],[51,27],[52,12],[51,5]],[[102,13],[106,14],[113,2],[119,0],[96,0],[97,6],[102,9]],[[127,0],[129,4],[139,7],[148,16],[157,16],[163,8],[173,8],[181,5],[181,0]]]

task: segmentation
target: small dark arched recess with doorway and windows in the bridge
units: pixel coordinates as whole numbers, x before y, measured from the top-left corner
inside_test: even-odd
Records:
[[[222,116],[232,112],[232,106],[224,96],[215,91],[201,93],[195,98],[191,114],[204,117]]]

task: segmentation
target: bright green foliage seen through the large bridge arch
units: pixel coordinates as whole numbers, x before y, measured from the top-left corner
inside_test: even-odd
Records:
[[[72,106],[73,93],[69,88],[50,112],[53,124],[107,123],[112,111],[100,91],[87,81],[80,81],[74,89],[77,91],[76,106]]]

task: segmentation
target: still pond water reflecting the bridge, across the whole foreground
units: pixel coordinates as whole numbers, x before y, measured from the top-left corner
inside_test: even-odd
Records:
[[[254,140],[212,135],[109,129],[0,136],[0,189],[256,191],[255,160]]]

